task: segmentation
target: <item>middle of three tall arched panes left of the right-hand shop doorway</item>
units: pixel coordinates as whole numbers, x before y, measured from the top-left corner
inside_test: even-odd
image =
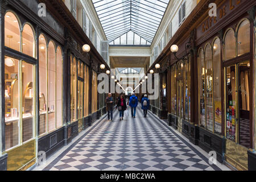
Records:
[[[205,47],[205,107],[207,129],[213,131],[213,61],[212,47]]]

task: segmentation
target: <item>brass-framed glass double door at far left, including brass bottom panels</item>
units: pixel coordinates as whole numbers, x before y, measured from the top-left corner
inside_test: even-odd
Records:
[[[7,170],[25,170],[36,162],[35,65],[6,56],[5,78]]]

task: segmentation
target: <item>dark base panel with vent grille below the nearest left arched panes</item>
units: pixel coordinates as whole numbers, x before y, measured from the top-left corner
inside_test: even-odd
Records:
[[[64,127],[53,131],[38,139],[38,152],[46,152],[46,158],[49,158],[54,152],[64,146]]]

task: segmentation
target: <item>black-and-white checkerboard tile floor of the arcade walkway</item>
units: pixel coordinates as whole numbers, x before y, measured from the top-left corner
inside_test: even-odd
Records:
[[[135,119],[131,118],[130,109],[129,117],[123,121],[114,111],[114,121],[105,118],[75,147],[60,155],[57,163],[52,162],[44,170],[220,170],[189,146],[151,114],[144,118],[138,107]]]

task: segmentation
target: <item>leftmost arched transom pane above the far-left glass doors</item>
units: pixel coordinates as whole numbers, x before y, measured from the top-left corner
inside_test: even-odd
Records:
[[[5,14],[5,46],[20,51],[19,21],[10,11]]]

